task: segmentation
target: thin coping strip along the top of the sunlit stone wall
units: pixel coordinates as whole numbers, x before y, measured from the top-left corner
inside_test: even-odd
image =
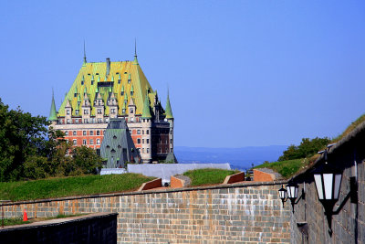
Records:
[[[119,193],[106,193],[106,194],[95,194],[95,195],[86,195],[86,196],[65,196],[65,197],[57,197],[57,198],[47,198],[47,199],[36,199],[36,200],[27,200],[27,201],[19,201],[19,202],[10,202],[1,204],[0,206],[14,206],[14,205],[22,205],[22,204],[35,204],[35,203],[47,203],[54,201],[68,201],[68,200],[76,200],[76,199],[85,199],[85,198],[97,198],[97,197],[110,197],[110,196],[132,196],[132,195],[145,195],[145,194],[159,194],[159,193],[170,193],[170,192],[184,192],[184,191],[199,191],[199,190],[210,190],[210,189],[224,189],[224,188],[235,188],[235,187],[248,187],[248,186],[275,186],[287,184],[287,180],[278,180],[278,181],[269,181],[269,182],[240,182],[234,184],[220,184],[214,186],[192,186],[185,188],[162,188],[156,190],[144,190],[144,191],[132,191],[132,192],[119,192]]]

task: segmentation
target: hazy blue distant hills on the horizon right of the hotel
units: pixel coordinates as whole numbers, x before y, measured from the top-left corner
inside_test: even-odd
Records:
[[[180,164],[229,163],[232,168],[245,170],[251,164],[276,161],[287,150],[287,145],[246,146],[241,148],[208,148],[175,146],[174,153]]]

